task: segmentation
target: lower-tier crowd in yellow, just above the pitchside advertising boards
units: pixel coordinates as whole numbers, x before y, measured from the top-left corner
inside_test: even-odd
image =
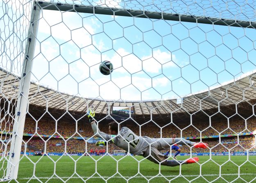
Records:
[[[239,141],[239,142],[238,142]],[[41,151],[49,152],[59,152],[68,154],[100,154],[100,152],[112,154],[114,150],[122,150],[116,145],[111,143],[108,146],[97,147],[93,143],[88,143],[84,140],[69,139],[63,140],[61,138],[32,138],[25,139],[27,152],[29,151]],[[193,142],[199,142],[199,140],[193,140]],[[239,140],[237,137],[226,137],[226,138],[214,138],[214,139],[204,139],[203,142],[207,143],[211,152],[236,152],[236,151],[256,151],[255,136],[240,136]],[[46,148],[46,149],[45,149]],[[180,145],[182,152],[210,152],[210,149],[195,149],[190,148],[188,145]],[[25,149],[25,144],[22,147],[22,151]]]

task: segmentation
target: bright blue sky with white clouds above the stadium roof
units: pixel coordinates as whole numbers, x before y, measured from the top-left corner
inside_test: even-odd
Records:
[[[43,10],[32,80],[82,97],[182,97],[255,70],[255,35],[255,29]],[[99,72],[104,60],[114,66],[109,76]]]

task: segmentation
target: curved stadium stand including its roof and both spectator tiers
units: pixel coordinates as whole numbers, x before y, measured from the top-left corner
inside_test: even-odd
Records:
[[[13,77],[5,70],[2,70],[2,74],[7,78]],[[144,102],[109,101],[110,114],[113,111],[113,106],[131,106],[132,117],[137,124],[133,120],[129,120],[122,122],[122,125],[129,127],[141,136],[165,138],[171,137],[172,133],[176,133],[177,137],[182,136],[183,138],[199,141],[201,131],[202,141],[213,147],[212,151],[220,152],[228,151],[228,149],[231,149],[231,151],[245,151],[251,147],[253,148],[250,151],[253,151],[255,150],[254,139],[256,134],[256,117],[254,114],[256,100],[255,90],[250,88],[255,83],[251,83],[251,80],[256,80],[255,74],[240,77],[235,84],[227,82],[210,88],[210,91],[188,95],[183,98],[182,106],[177,103],[177,99]],[[3,87],[7,95],[8,92],[16,90],[18,86],[16,86],[14,80],[13,83],[5,83]],[[43,96],[38,92],[38,88],[41,93],[44,93]],[[245,91],[244,93],[242,92],[243,90]],[[226,91],[227,93],[225,94]],[[211,93],[211,96],[208,95],[208,92]],[[39,86],[31,82],[29,96],[32,98],[29,98],[29,114],[26,116],[23,134],[24,142],[28,141],[26,151],[37,151],[44,148],[44,142],[39,137],[33,136],[29,140],[30,136],[35,134],[47,140],[46,147],[49,147],[47,148],[48,152],[63,151],[63,139],[67,140],[68,138],[66,145],[69,153],[75,151],[84,152],[86,142],[72,138],[93,137],[93,131],[88,123],[88,118],[85,116],[87,107],[94,106],[96,120],[101,121],[99,128],[107,132],[107,124],[110,121],[103,118],[106,117],[108,104],[100,99],[82,99],[79,97],[70,98],[66,101],[65,99],[70,97],[68,94],[59,93],[54,95],[55,93],[54,90],[46,86]],[[48,97],[51,99],[48,99]],[[45,108],[46,100],[48,100],[47,109]],[[2,140],[8,141],[9,133],[13,131],[16,104],[15,101],[10,102],[10,108],[7,108],[6,102],[5,99],[0,98],[2,108],[0,111],[0,130]],[[88,106],[85,104],[88,104]],[[72,117],[66,113],[66,107],[68,107]],[[46,110],[47,112],[45,113]],[[159,127],[162,127],[162,130]],[[238,133],[240,134],[239,145],[237,144]],[[48,139],[50,136],[52,138]],[[63,139],[56,138],[58,136],[62,136]],[[70,138],[70,136],[72,137]],[[223,142],[217,145],[219,136],[221,136]],[[97,148],[87,143],[88,149]],[[111,153],[114,149],[117,148],[110,145],[108,152]],[[184,149],[183,151],[189,151],[188,147],[185,146],[182,149]],[[209,149],[204,151],[209,151]]]

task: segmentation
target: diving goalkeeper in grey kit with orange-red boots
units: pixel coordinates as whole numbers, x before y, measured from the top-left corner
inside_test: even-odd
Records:
[[[127,127],[122,127],[118,133],[118,124],[116,122],[109,123],[109,134],[100,131],[92,117],[95,112],[92,108],[88,110],[89,121],[95,136],[103,138],[105,141],[97,141],[96,145],[106,145],[109,141],[116,146],[128,151],[130,154],[139,155],[147,158],[148,160],[165,166],[178,166],[180,164],[190,164],[199,161],[199,158],[188,158],[186,160],[167,160],[168,156],[163,155],[160,151],[170,149],[170,146],[177,143],[185,145],[192,145],[195,148],[206,149],[207,144],[202,142],[196,143],[183,138],[150,138],[147,136],[137,136],[133,131]]]

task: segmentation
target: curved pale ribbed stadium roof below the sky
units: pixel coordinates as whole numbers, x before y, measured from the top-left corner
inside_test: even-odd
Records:
[[[0,81],[2,87],[1,95],[9,100],[16,101],[19,90],[20,77],[7,70],[1,69]],[[193,113],[199,110],[211,110],[240,104],[256,103],[256,72],[245,74],[242,77],[202,92],[193,93],[181,98],[151,100],[151,101],[114,101],[99,98],[84,98],[61,93],[49,87],[31,82],[29,91],[29,104],[35,106],[46,106],[54,110],[68,110],[71,112],[87,111],[88,106],[93,106],[96,113],[106,113],[113,106],[131,107],[134,115],[163,115],[187,111]],[[238,104],[239,105],[239,104]],[[248,105],[240,105],[246,109]]]

